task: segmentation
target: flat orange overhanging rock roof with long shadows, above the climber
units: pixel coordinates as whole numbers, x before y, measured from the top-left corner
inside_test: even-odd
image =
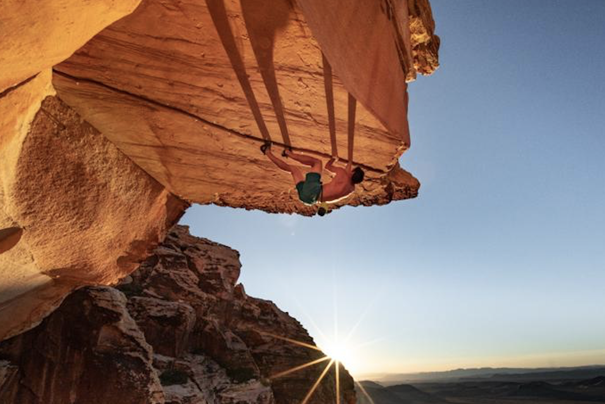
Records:
[[[57,65],[53,84],[181,198],[310,215],[259,146],[264,125],[275,143],[332,154],[323,52],[335,73],[339,156],[352,94],[353,160],[367,171],[338,206],[385,204],[419,189],[397,159],[410,145],[405,82],[437,67],[431,24],[426,0],[143,0]]]

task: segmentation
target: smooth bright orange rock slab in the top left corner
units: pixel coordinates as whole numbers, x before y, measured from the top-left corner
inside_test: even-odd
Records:
[[[2,0],[0,92],[67,59],[140,0]]]

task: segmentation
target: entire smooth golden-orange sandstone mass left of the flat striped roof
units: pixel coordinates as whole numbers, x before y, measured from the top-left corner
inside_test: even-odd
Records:
[[[51,67],[140,0],[2,2],[0,340],[136,268],[187,203],[61,102]]]

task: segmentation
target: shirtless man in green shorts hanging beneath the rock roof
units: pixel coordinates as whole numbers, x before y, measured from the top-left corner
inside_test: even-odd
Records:
[[[302,176],[302,169],[295,165],[289,165],[286,161],[275,157],[271,152],[271,143],[265,143],[261,146],[261,151],[269,157],[276,166],[284,171],[290,172],[296,184],[298,198],[302,203],[312,206],[316,203],[332,203],[347,197],[351,192],[355,191],[355,184],[361,183],[364,180],[364,171],[356,167],[351,168],[351,161],[348,162],[346,168],[336,167],[336,157],[332,157],[325,165],[325,168],[333,172],[335,177],[329,183],[322,185],[321,183],[321,160],[310,157],[308,155],[296,154],[289,149],[284,150],[283,156],[290,157],[294,160],[309,166],[311,169],[305,177]],[[326,209],[324,206],[319,207],[319,216],[325,215]]]

